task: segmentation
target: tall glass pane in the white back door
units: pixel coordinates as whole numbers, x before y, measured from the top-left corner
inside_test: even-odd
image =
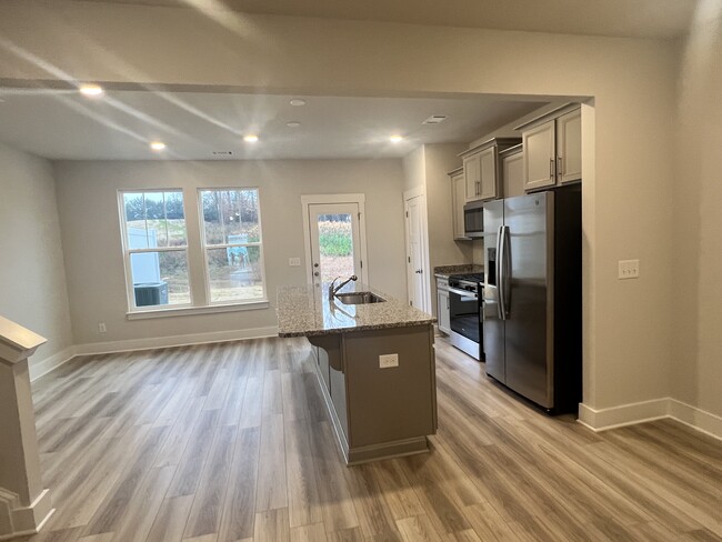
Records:
[[[351,214],[319,214],[318,225],[321,281],[354,274]]]

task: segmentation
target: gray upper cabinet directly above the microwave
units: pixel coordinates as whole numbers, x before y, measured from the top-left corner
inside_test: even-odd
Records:
[[[499,153],[519,142],[515,138],[493,138],[459,154],[463,160],[467,201],[503,197]]]

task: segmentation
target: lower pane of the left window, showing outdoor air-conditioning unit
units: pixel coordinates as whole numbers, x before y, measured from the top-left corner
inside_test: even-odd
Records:
[[[136,307],[188,304],[188,259],[184,250],[130,254]]]

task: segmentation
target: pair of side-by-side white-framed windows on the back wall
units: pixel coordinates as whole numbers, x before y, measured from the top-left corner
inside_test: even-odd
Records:
[[[129,318],[268,307],[259,190],[195,195],[189,231],[181,189],[119,191]]]

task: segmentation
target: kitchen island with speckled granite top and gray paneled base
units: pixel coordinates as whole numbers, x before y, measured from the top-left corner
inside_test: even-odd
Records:
[[[338,294],[352,292],[381,301],[331,301],[325,284],[279,288],[279,335],[313,345],[347,464],[428,451],[427,435],[437,431],[435,319],[358,282]]]

